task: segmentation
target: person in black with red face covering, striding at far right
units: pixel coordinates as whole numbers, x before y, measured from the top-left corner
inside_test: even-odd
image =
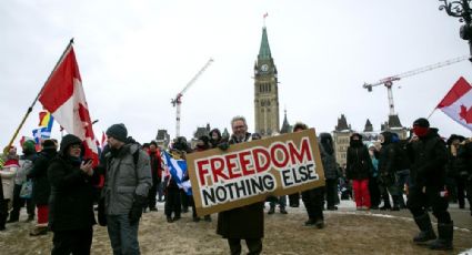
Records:
[[[448,191],[445,190],[445,164],[448,152],[436,129],[430,129],[426,119],[413,122],[416,135],[408,145],[411,162],[411,186],[406,206],[413,214],[420,233],[413,242],[425,244],[435,239],[432,249],[452,249],[453,222],[448,212]],[[439,237],[434,234],[426,207],[431,206],[438,218]]]

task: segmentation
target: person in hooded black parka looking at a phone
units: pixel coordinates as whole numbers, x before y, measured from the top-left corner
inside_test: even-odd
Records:
[[[49,227],[54,233],[51,254],[90,254],[92,245],[93,174],[92,162],[80,157],[82,141],[76,135],[62,137],[59,155],[48,167],[51,183]]]

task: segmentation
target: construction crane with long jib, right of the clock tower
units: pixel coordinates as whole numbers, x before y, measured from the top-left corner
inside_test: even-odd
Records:
[[[468,59],[471,59],[471,57],[470,55],[463,55],[463,57],[459,57],[459,58],[455,58],[455,59],[439,62],[439,63],[435,63],[435,64],[430,64],[430,65],[419,68],[419,69],[415,69],[415,70],[411,70],[411,71],[408,71],[408,72],[404,72],[404,73],[401,73],[401,74],[398,74],[398,75],[384,78],[384,79],[382,79],[378,82],[374,82],[374,83],[364,83],[363,88],[368,89],[369,92],[372,92],[373,86],[378,86],[378,85],[381,85],[381,84],[385,85],[386,86],[386,93],[388,93],[388,96],[389,96],[389,108],[390,108],[390,114],[389,115],[394,115],[395,109],[394,109],[394,105],[393,105],[393,92],[392,92],[392,86],[393,86],[394,81],[400,81],[403,78],[413,76],[413,75],[416,75],[416,74],[420,74],[420,73],[423,73],[423,72],[426,72],[426,71],[431,71],[431,70],[434,70],[434,69],[446,67],[446,65],[458,63],[458,62],[461,62],[461,61],[464,61],[464,60],[468,60]]]

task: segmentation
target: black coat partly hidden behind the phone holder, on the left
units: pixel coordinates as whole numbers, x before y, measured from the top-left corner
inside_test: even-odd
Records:
[[[32,200],[37,205],[48,205],[51,185],[48,181],[48,167],[52,159],[57,155],[56,150],[43,150],[38,154],[28,178],[32,178]]]

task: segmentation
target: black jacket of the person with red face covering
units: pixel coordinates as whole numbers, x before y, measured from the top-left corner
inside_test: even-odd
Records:
[[[414,185],[442,187],[445,180],[448,151],[444,141],[430,131],[408,145],[411,162],[410,176]]]

